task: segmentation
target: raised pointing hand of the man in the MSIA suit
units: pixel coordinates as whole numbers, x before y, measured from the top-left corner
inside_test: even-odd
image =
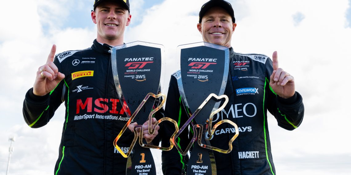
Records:
[[[33,93],[37,96],[45,96],[65,78],[65,75],[58,71],[54,64],[56,45],[52,45],[51,52],[47,58],[46,64],[40,66],[37,71],[37,78],[33,85]]]

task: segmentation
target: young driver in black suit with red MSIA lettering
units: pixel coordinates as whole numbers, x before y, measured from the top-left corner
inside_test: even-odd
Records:
[[[23,114],[32,128],[46,125],[65,102],[65,122],[54,174],[125,175],[127,159],[114,148],[113,140],[128,117],[115,90],[111,48],[123,44],[125,27],[131,20],[129,10],[128,0],[95,0],[91,16],[97,24],[97,39],[93,45],[56,56],[53,45],[47,63],[39,67],[34,86],[26,94]],[[161,112],[156,115],[162,116]],[[144,129],[147,128],[146,122]],[[159,139],[154,139],[157,134],[146,133],[144,138],[158,145]],[[119,141],[123,152],[127,153],[133,136],[127,130]]]

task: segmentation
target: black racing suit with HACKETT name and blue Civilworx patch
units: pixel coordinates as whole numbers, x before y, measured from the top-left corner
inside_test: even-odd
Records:
[[[304,105],[301,95],[296,92],[288,99],[277,96],[269,85],[272,71],[272,61],[269,57],[235,53],[230,48],[229,76],[224,93],[229,97],[229,103],[213,116],[213,125],[220,120],[229,119],[238,125],[239,136],[234,140],[230,153],[214,151],[218,175],[275,174],[267,110],[277,119],[278,125],[286,130],[294,130],[302,122]],[[176,75],[177,72],[171,76],[165,117],[178,121],[180,128],[188,116],[177,86],[177,79],[180,77]],[[180,73],[178,75],[180,76]],[[174,127],[166,124],[163,129],[166,137],[174,132]],[[234,134],[233,126],[226,123],[220,125],[210,139],[211,146],[228,149],[228,142]],[[192,138],[192,130],[186,129],[176,142],[184,150],[190,142],[189,138]],[[162,146],[167,146],[166,139],[163,139]],[[187,156],[182,156],[177,149],[163,151],[164,174],[181,174],[181,170],[186,166],[186,159]]]

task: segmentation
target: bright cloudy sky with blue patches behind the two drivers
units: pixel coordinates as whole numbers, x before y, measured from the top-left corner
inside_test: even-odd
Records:
[[[132,23],[125,42],[145,41],[166,48],[167,72],[176,70],[176,47],[200,42],[198,12],[207,0],[130,0]],[[305,104],[302,125],[294,131],[269,117],[278,174],[351,172],[350,48],[351,0],[229,0],[237,28],[232,47],[271,56],[291,73]],[[16,3],[16,5],[14,4]],[[39,129],[22,117],[22,102],[52,44],[57,53],[85,49],[96,37],[93,0],[18,0],[1,2],[0,25],[0,175],[6,174],[9,136],[15,136],[10,174],[52,174],[64,123],[64,105]]]

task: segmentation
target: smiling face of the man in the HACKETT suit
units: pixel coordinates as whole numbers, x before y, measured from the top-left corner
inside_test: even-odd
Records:
[[[231,47],[232,34],[237,26],[224,8],[212,7],[197,25],[204,42]]]

